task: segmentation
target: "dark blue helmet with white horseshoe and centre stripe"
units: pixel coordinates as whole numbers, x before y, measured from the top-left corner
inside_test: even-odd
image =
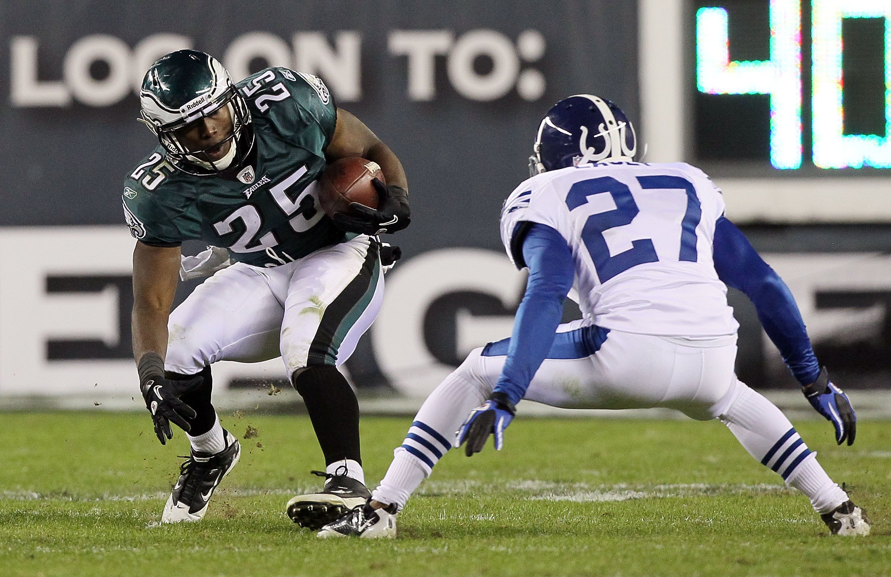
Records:
[[[557,102],[538,126],[529,175],[603,160],[633,160],[634,125],[619,107],[593,94]]]

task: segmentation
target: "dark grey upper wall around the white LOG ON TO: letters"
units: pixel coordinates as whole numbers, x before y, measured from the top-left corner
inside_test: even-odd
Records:
[[[153,136],[135,121],[133,94],[110,106],[72,102],[59,107],[15,107],[10,95],[10,46],[35,37],[38,77],[60,80],[66,53],[92,34],[118,37],[131,48],[158,33],[191,37],[196,49],[223,60],[233,40],[264,31],[290,45],[299,31],[361,35],[358,102],[340,102],[372,127],[405,164],[413,199],[413,226],[400,235],[408,256],[430,248],[499,248],[498,210],[527,174],[527,157],[544,111],[569,93],[598,93],[638,112],[636,11],[622,0],[550,3],[264,2],[247,9],[234,0],[152,2],[18,0],[0,5],[0,225],[120,223],[119,189]],[[514,44],[534,29],[544,37],[541,58],[523,61],[544,76],[544,93],[524,100],[516,90],[491,102],[470,100],[450,84],[446,56],[436,57],[436,95],[413,101],[407,58],[388,51],[398,30],[445,30],[460,38],[491,29]],[[621,34],[617,34],[621,31]],[[252,69],[267,63],[252,62]],[[474,62],[482,74],[492,63]],[[108,66],[94,63],[94,76]],[[136,72],[133,72],[137,74]],[[141,74],[138,73],[138,74]],[[325,76],[324,73],[321,76]],[[238,80],[239,78],[235,78]],[[331,83],[329,83],[331,84]],[[460,223],[460,225],[458,224]]]

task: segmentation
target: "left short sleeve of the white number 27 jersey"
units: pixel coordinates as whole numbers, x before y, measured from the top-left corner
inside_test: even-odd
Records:
[[[552,199],[550,181],[530,178],[521,183],[504,201],[501,216],[501,238],[511,263],[518,269],[527,264],[523,259],[523,240],[534,223],[562,231],[557,204]]]

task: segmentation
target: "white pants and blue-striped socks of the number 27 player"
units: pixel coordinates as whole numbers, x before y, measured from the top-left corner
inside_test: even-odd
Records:
[[[819,512],[847,500],[782,411],[736,378],[736,335],[655,337],[583,327],[582,321],[560,325],[557,332],[524,398],[567,409],[666,407],[692,419],[719,418],[753,457],[805,492]],[[470,410],[492,393],[509,342],[474,350],[429,395],[373,499],[405,505],[452,448]]]

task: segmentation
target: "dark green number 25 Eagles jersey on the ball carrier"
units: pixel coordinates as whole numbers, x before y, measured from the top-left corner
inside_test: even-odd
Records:
[[[239,177],[188,175],[159,145],[127,176],[124,216],[146,244],[203,240],[233,260],[275,266],[346,239],[319,206],[316,179],[334,136],[337,109],[322,80],[284,68],[239,82],[255,142]]]

